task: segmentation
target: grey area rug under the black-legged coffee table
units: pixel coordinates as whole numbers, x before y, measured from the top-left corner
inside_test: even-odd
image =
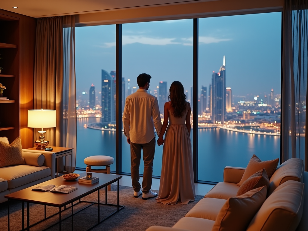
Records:
[[[93,228],[93,231],[98,230],[127,230],[127,231],[144,231],[151,225],[162,225],[172,227],[177,221],[179,221],[184,215],[197,204],[204,196],[197,196],[196,200],[188,203],[187,205],[163,205],[157,203],[155,198],[149,200],[142,200],[142,196],[139,198],[133,197],[132,187],[120,186],[120,205],[124,205],[125,208],[109,217],[106,221]],[[108,203],[117,203],[117,186],[111,185],[111,191],[108,192]],[[156,190],[153,190],[157,192]],[[105,189],[100,190],[100,202],[105,203]],[[97,192],[90,194],[82,199],[83,201],[97,202]],[[76,201],[77,202],[77,201]],[[83,202],[74,206],[74,212],[78,211],[89,205],[89,203]],[[116,211],[117,207],[100,206],[100,219],[104,219],[106,215]],[[59,209],[55,207],[47,206],[47,216],[50,216]],[[21,202],[10,202],[10,231],[17,231],[22,228],[21,224]],[[61,213],[61,218],[65,218],[71,215],[71,209],[67,209]],[[44,218],[44,206],[30,204],[30,224]],[[26,203],[25,203],[25,220],[26,220]],[[74,215],[74,230],[81,231],[87,230],[94,225],[98,220],[98,207],[92,205],[87,209]],[[55,215],[50,219],[39,223],[31,227],[31,231],[56,231],[59,230],[59,224],[48,228],[50,225],[59,221],[59,215]],[[62,230],[71,230],[71,217],[61,222]],[[25,224],[26,227],[26,224]],[[7,226],[7,202],[0,204],[0,231],[8,230]]]

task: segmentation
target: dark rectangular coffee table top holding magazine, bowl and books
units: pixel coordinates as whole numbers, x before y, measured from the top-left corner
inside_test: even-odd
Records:
[[[79,178],[83,176],[86,176],[85,172],[81,173]],[[110,175],[97,172],[93,172],[92,176],[99,177],[99,182],[94,184],[79,184],[79,178],[77,178],[76,180],[69,181],[65,180],[62,176],[60,176],[51,180],[47,180],[43,183],[36,184],[29,188],[22,189],[15,193],[10,193],[4,197],[8,199],[26,201],[34,204],[63,207],[64,205],[76,201],[81,197],[87,196],[97,191],[99,188],[103,188],[104,186],[116,182],[117,180],[122,178],[121,175]],[[68,194],[31,190],[31,188],[35,188],[36,186],[43,184],[70,185],[78,189]]]

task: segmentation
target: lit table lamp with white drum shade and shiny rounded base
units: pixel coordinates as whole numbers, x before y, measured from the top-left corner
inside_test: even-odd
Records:
[[[37,146],[36,149],[45,149],[49,144],[48,140],[45,140],[43,135],[46,131],[43,128],[55,128],[57,126],[56,121],[56,110],[28,110],[28,127],[29,128],[42,128],[39,136],[39,140],[35,140],[34,144]]]

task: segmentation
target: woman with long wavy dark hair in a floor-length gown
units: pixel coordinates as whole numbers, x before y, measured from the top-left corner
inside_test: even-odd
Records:
[[[195,200],[196,193],[190,143],[191,109],[190,104],[185,101],[182,83],[174,81],[171,84],[168,99],[169,102],[164,105],[164,123],[157,140],[158,145],[164,143],[164,148],[159,194],[156,200],[164,205],[186,205],[189,201]]]

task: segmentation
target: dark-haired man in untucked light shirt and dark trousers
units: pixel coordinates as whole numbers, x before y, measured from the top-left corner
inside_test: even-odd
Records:
[[[142,199],[156,197],[152,192],[153,160],[155,153],[155,132],[161,131],[160,112],[157,98],[148,93],[151,75],[140,74],[137,77],[139,89],[129,95],[125,101],[123,112],[124,135],[127,143],[131,145],[131,175],[134,197],[142,194]],[[143,150],[144,172],[142,188],[139,184],[139,166]]]

